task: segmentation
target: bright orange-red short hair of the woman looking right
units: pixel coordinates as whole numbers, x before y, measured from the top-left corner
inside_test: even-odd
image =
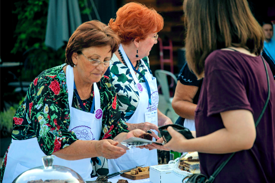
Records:
[[[144,40],[153,31],[159,32],[164,25],[162,16],[154,8],[149,9],[140,3],[125,4],[116,15],[116,19],[111,19],[108,25],[123,44],[129,44],[135,38]]]

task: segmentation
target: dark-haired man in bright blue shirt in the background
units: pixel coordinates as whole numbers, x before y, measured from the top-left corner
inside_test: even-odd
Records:
[[[273,25],[271,22],[264,22],[262,27],[265,35],[264,50],[275,64],[275,41],[272,40]]]

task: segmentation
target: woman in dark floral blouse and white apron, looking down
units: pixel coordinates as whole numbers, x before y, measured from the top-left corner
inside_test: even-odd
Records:
[[[87,180],[93,174],[91,158],[118,158],[126,153],[120,141],[145,133],[127,130],[115,89],[103,77],[118,43],[116,34],[99,21],[76,29],[66,48],[66,64],[35,78],[14,115],[0,182],[10,183],[22,172],[42,166],[41,157],[50,154],[56,156],[55,165],[71,168]]]

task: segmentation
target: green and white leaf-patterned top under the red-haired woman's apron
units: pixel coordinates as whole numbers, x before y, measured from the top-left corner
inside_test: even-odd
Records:
[[[113,64],[110,65],[111,73],[109,77],[117,92],[117,103],[121,111],[121,119],[127,122],[137,108],[139,93],[135,87],[135,81],[133,80],[129,68],[121,63],[115,54],[113,54],[111,60],[113,61]],[[148,57],[144,57],[142,60],[152,75]],[[145,66],[143,66],[141,62],[139,62],[138,71],[143,75],[148,73]],[[136,76],[139,82],[145,82],[140,74],[136,73]]]

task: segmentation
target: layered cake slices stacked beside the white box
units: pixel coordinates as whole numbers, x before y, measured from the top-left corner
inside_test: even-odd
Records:
[[[188,152],[183,158],[180,158],[178,168],[191,172],[192,174],[201,173],[198,152]]]

